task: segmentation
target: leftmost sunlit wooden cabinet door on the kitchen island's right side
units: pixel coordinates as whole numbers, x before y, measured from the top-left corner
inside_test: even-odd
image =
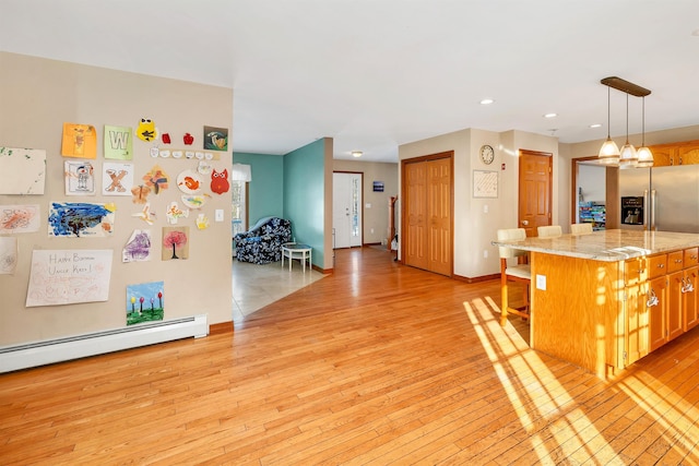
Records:
[[[629,366],[649,353],[648,284],[626,288],[626,360]]]

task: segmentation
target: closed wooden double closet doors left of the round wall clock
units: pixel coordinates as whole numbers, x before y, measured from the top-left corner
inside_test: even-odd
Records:
[[[403,166],[403,258],[406,265],[451,276],[453,270],[452,154]]]

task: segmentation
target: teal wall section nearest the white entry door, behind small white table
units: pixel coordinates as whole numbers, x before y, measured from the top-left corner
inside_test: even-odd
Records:
[[[325,141],[320,139],[284,155],[284,217],[296,242],[309,244],[312,262],[324,264]]]

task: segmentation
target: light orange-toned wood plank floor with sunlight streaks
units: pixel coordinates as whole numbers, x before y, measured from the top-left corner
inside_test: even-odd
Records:
[[[697,464],[699,333],[603,381],[372,248],[233,333],[0,375],[0,464]],[[561,336],[561,337],[565,337]]]

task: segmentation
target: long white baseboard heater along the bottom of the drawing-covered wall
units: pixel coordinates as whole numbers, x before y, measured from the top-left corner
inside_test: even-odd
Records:
[[[0,347],[0,373],[209,334],[206,314]]]

